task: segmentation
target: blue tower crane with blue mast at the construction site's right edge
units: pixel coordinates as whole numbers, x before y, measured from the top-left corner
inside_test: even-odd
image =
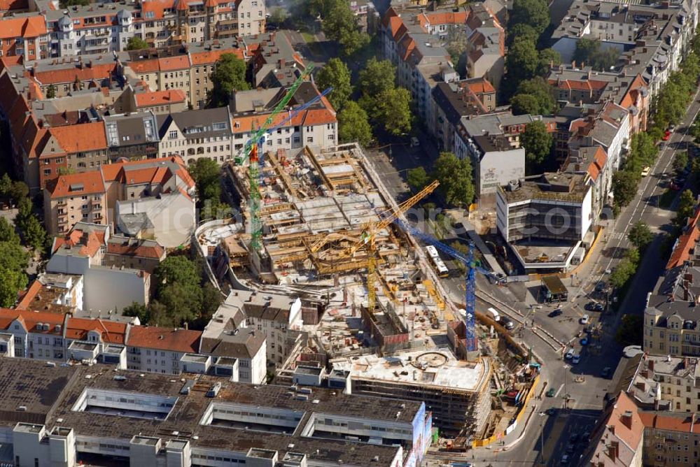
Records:
[[[465,277],[465,289],[466,289],[466,294],[465,294],[465,310],[466,314],[464,317],[464,324],[465,324],[465,340],[466,340],[466,347],[469,352],[473,352],[478,349],[477,345],[477,338],[476,338],[476,324],[475,324],[475,313],[476,313],[476,291],[477,291],[477,280],[476,280],[476,273],[480,273],[485,275],[487,278],[490,280],[493,280],[494,282],[500,282],[502,278],[499,278],[496,273],[492,273],[491,271],[486,271],[486,269],[482,268],[477,264],[477,261],[474,259],[474,242],[470,241],[469,242],[469,251],[467,254],[463,254],[462,252],[458,252],[455,250],[453,247],[450,247],[448,245],[445,245],[444,243],[440,242],[440,240],[437,240],[437,238],[430,236],[428,234],[424,234],[421,232],[419,229],[416,229],[415,227],[412,227],[411,225],[407,224],[406,222],[403,222],[401,219],[396,218],[394,221],[403,231],[409,232],[409,234],[412,234],[412,236],[419,238],[422,240],[424,243],[428,243],[428,245],[433,245],[437,250],[440,250],[446,254],[449,254],[451,257],[456,259],[457,261],[460,261],[464,266],[467,268],[467,275]]]

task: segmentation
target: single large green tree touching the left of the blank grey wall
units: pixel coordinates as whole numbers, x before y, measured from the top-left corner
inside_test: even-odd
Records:
[[[469,206],[474,201],[472,164],[468,157],[458,159],[452,152],[441,152],[435,161],[434,176],[440,192],[452,206]]]

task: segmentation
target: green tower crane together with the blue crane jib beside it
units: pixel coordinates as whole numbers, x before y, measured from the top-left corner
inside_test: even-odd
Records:
[[[255,252],[260,252],[260,248],[262,247],[262,222],[260,221],[260,165],[262,164],[262,160],[260,158],[262,157],[262,151],[260,151],[260,146],[265,143],[265,133],[270,131],[269,128],[271,127],[274,118],[289,103],[297,89],[302,85],[302,82],[304,82],[304,80],[313,70],[314,66],[309,65],[304,69],[304,71],[302,71],[293,85],[289,87],[284,97],[274,107],[272,113],[269,114],[262,126],[251,135],[251,138],[248,141],[246,141],[242,151],[243,155],[235,158],[235,163],[237,165],[243,165],[246,163],[246,160],[248,161],[248,185],[250,187],[250,202],[248,204],[248,211],[250,213],[251,223],[251,250],[254,250]],[[311,101],[304,103],[304,105],[300,106],[300,108],[295,108],[292,110],[290,115],[288,115],[288,117],[280,124],[273,127],[273,129],[276,129],[288,120],[291,120],[296,113],[300,112],[300,110],[303,110],[304,108],[307,108],[309,105],[311,105],[311,103],[314,103],[318,99],[321,99],[321,96],[327,94],[328,92],[330,92],[330,89],[326,89],[323,94],[319,94],[318,96],[314,97],[314,99],[311,99]]]

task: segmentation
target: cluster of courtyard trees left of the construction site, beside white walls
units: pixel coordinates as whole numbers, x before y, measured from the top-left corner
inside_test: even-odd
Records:
[[[204,329],[223,296],[208,280],[202,267],[183,255],[169,256],[153,274],[155,298],[144,306],[132,303],[123,310],[126,316],[137,316],[141,324],[182,326]]]

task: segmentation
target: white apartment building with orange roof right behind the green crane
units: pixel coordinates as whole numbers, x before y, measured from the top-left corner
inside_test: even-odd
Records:
[[[229,103],[234,155],[243,149],[251,134],[265,122],[285,94],[284,88],[255,89],[234,93]],[[292,108],[300,106],[314,99],[318,94],[318,89],[312,82],[302,82],[288,106]],[[265,147],[261,148],[265,151],[292,150],[304,148],[306,145],[326,148],[337,145],[338,141],[335,109],[325,97],[291,119],[288,119],[285,113],[279,113],[272,122],[272,127],[278,128],[266,134]]]

